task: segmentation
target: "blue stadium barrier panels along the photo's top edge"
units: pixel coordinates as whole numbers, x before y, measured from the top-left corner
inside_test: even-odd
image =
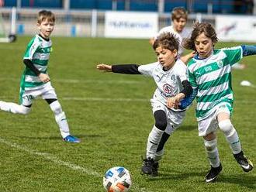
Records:
[[[157,12],[157,2],[158,0],[130,0],[130,11]],[[164,12],[171,12],[175,7],[187,8],[187,2],[185,0],[165,0]],[[117,10],[126,9],[125,0],[117,0],[116,3]],[[206,13],[209,3],[213,5],[213,13],[244,14],[247,12],[247,5],[242,0],[194,0],[192,10],[193,12]],[[17,0],[5,0],[5,7],[16,5]],[[21,6],[22,8],[63,9],[63,0],[21,0]],[[71,0],[70,9],[112,10],[112,0]]]

